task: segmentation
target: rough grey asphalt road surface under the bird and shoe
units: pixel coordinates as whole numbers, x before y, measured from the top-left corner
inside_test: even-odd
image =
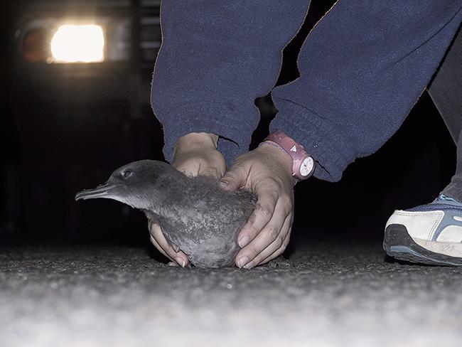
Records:
[[[297,247],[256,269],[142,247],[0,246],[0,346],[462,346],[462,268],[380,244]]]

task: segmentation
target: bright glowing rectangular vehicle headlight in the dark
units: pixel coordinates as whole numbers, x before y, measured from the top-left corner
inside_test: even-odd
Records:
[[[57,63],[98,63],[104,60],[104,33],[101,26],[60,26],[51,40]]]

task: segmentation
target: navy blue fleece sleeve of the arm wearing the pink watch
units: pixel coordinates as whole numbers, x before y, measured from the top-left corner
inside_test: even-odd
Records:
[[[434,75],[461,24],[461,0],[345,0],[311,31],[300,78],[272,92],[270,129],[303,144],[315,176],[338,181],[389,139]]]

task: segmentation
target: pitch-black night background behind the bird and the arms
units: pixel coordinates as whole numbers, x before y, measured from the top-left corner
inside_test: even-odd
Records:
[[[55,1],[56,8],[67,2]],[[313,0],[301,31],[284,50],[278,84],[297,77],[301,43],[332,2]],[[155,52],[149,52],[149,59],[134,45],[125,63],[28,63],[18,53],[15,32],[25,16],[55,11],[53,1],[1,6],[0,243],[147,245],[142,213],[115,201],[75,203],[74,195],[102,183],[129,161],[163,159],[161,127],[149,106]],[[114,14],[156,16],[156,6],[150,6],[128,6]],[[63,11],[87,10],[113,13],[111,6],[96,1],[79,1]],[[132,33],[131,39],[142,38]],[[268,98],[257,105],[262,122],[253,145],[267,134],[274,116]],[[427,203],[446,186],[455,169],[455,150],[424,92],[397,134],[373,156],[350,165],[342,181],[310,179],[296,186],[296,239],[380,242],[395,208]]]

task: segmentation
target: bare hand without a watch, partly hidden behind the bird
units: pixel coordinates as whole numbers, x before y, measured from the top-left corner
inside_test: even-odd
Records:
[[[180,137],[175,145],[172,166],[187,176],[208,175],[219,180],[226,170],[225,158],[217,151],[218,137],[215,134],[190,133]],[[178,265],[188,265],[188,257],[181,250],[175,250],[168,243],[157,224],[149,225],[151,243],[159,252]]]

